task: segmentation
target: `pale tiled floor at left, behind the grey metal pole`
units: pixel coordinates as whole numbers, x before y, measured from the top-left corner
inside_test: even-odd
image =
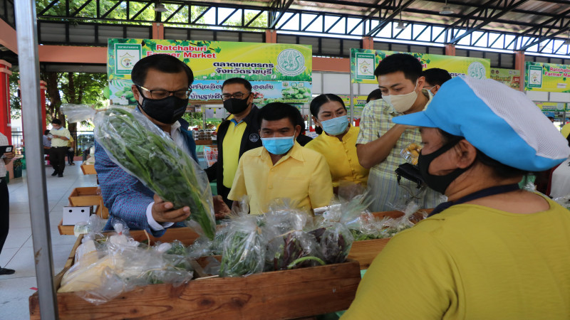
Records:
[[[73,188],[95,186],[95,175],[83,176],[80,166],[66,166],[63,178],[53,177],[53,170],[46,167],[48,208],[50,218],[53,272],[63,269],[71,247],[76,241],[73,235],[60,235],[57,225],[62,208],[68,205]],[[15,274],[0,276],[0,319],[29,319],[28,297],[36,287],[36,269],[33,263],[30,209],[26,170],[23,178],[10,181],[10,231],[0,254],[0,266],[16,270]]]

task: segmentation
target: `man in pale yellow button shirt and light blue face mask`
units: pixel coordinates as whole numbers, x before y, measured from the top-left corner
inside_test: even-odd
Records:
[[[248,197],[252,214],[262,214],[276,198],[289,198],[297,208],[328,206],[333,197],[331,172],[326,159],[295,142],[301,132],[296,107],[274,102],[259,111],[263,146],[239,159],[228,198]]]

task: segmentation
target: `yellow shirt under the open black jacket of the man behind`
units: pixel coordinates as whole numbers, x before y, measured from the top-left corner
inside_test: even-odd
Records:
[[[232,121],[227,128],[224,141],[222,142],[222,150],[224,152],[224,186],[232,188],[234,176],[237,170],[237,161],[239,160],[239,147],[242,145],[242,137],[244,136],[247,124],[242,121],[236,124]]]

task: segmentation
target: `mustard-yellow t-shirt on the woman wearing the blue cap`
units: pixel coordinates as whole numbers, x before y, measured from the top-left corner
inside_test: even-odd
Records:
[[[569,319],[570,212],[452,206],[396,235],[343,319]]]

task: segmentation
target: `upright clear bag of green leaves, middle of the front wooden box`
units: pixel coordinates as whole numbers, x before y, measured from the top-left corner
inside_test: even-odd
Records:
[[[234,218],[224,239],[221,277],[239,277],[263,272],[266,236],[263,216],[243,215]]]

